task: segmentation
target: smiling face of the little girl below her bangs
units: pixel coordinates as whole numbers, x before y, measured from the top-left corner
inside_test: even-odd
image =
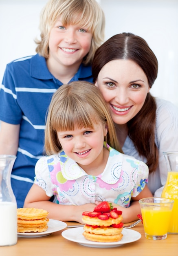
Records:
[[[107,128],[99,123],[94,124],[94,129],[59,131],[57,137],[66,155],[86,171],[88,167],[93,170],[94,166],[102,165],[103,141],[107,131]]]

